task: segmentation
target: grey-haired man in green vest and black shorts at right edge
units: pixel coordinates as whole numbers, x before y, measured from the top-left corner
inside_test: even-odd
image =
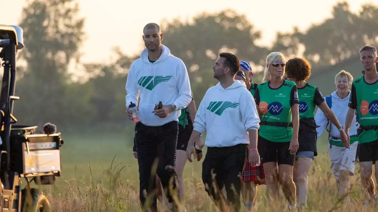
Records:
[[[372,178],[374,164],[375,180],[378,183],[378,73],[376,70],[378,57],[374,46],[364,46],[359,54],[365,73],[352,83],[349,110],[345,118],[345,132],[348,135],[357,109],[360,124],[357,135],[361,180],[369,194],[367,201],[372,203],[376,198]]]

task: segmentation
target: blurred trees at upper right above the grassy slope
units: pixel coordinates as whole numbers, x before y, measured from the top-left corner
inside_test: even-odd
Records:
[[[350,11],[347,2],[333,6],[332,17],[312,24],[307,31],[294,27],[293,33],[277,33],[274,51],[296,55],[304,46],[304,57],[311,64],[329,66],[359,54],[365,45],[377,43],[378,8],[364,4],[358,14]]]

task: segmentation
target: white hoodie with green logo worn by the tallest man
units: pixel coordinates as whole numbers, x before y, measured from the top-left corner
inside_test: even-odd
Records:
[[[161,126],[171,121],[178,121],[181,109],[192,101],[189,76],[184,62],[170,54],[170,50],[161,45],[163,52],[158,60],[151,63],[147,48],[141,57],[133,61],[126,81],[126,107],[131,102],[138,104],[139,120],[147,126]],[[159,118],[152,113],[155,104],[161,101],[164,105],[175,104],[176,111],[166,118]]]

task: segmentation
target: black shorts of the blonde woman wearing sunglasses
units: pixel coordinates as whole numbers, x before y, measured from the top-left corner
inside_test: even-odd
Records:
[[[294,166],[295,154],[290,154],[289,142],[273,142],[266,140],[259,135],[257,139],[257,149],[262,163],[276,162],[278,165],[287,164]]]

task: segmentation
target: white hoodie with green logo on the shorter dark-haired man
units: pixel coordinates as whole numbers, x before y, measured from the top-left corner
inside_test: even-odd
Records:
[[[207,131],[208,147],[249,144],[248,130],[260,128],[255,100],[239,80],[226,89],[220,83],[209,88],[194,121],[195,131]]]

